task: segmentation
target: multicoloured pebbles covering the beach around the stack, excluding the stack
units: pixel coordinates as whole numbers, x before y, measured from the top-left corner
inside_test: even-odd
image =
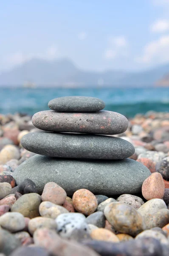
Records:
[[[54,182],[42,195],[31,180],[17,186],[14,170],[34,155],[20,140],[39,129],[31,116],[0,115],[0,256],[169,254],[169,113],[129,121],[114,136],[131,142],[130,158],[152,173],[142,193],[107,197],[79,189],[70,198]]]

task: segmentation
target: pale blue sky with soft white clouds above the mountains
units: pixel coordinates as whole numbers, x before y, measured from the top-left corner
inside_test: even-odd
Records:
[[[169,62],[169,0],[0,1],[0,72],[31,58],[84,70]]]

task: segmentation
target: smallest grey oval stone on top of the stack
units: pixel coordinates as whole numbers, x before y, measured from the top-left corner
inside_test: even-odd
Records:
[[[52,99],[48,107],[58,112],[96,112],[105,108],[105,103],[93,97],[68,96]]]

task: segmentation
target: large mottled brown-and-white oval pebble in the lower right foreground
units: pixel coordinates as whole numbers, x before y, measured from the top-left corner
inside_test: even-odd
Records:
[[[145,230],[144,219],[136,209],[119,202],[108,204],[104,209],[107,221],[121,233],[136,236]]]

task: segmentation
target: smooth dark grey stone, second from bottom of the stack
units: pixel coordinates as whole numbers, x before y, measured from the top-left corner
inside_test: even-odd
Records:
[[[48,157],[124,159],[135,152],[127,140],[90,134],[33,132],[23,136],[21,144],[28,151]]]

